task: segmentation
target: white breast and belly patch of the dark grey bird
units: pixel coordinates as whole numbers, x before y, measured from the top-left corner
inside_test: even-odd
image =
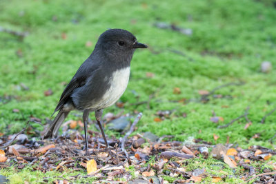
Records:
[[[109,81],[110,88],[106,90],[105,94],[99,101],[99,108],[107,108],[115,103],[126,90],[128,79],[130,76],[130,67],[116,70],[112,73]]]

